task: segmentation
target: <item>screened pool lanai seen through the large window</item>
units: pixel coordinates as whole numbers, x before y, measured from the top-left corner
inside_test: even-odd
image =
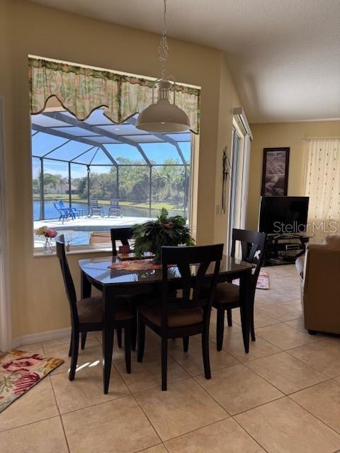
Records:
[[[102,109],[85,121],[65,110],[31,115],[35,226],[103,230],[156,217],[162,207],[187,217],[191,134],[137,130],[136,117],[118,125]],[[80,215],[59,221],[59,200]],[[90,200],[101,216],[89,217]],[[108,217],[111,200],[122,217]]]

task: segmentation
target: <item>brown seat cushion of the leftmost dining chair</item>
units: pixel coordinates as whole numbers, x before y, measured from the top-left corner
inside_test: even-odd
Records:
[[[79,323],[101,323],[103,320],[103,302],[101,296],[86,297],[77,302],[77,310],[79,316]],[[132,319],[132,314],[128,305],[120,304],[115,311],[115,321],[125,321]]]

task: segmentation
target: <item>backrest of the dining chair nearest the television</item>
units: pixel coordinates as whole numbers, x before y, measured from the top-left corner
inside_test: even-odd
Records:
[[[235,256],[236,242],[241,243],[242,260],[247,263],[255,263],[256,267],[251,276],[252,286],[256,288],[256,282],[259,277],[261,265],[264,259],[264,247],[266,245],[266,234],[259,231],[249,231],[246,229],[232,230],[232,251],[231,256]]]

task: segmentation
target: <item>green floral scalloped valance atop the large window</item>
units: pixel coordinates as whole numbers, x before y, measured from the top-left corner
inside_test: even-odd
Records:
[[[152,103],[153,82],[111,71],[29,58],[30,113],[41,113],[47,100],[55,96],[77,120],[86,120],[93,110],[104,107],[113,122],[123,122]],[[157,93],[155,92],[155,95]],[[171,101],[173,93],[171,92]],[[199,133],[200,90],[176,86],[176,105]]]

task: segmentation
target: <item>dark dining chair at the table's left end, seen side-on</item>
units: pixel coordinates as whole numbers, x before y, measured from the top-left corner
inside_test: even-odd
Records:
[[[77,301],[76,289],[69,264],[65,253],[64,235],[57,236],[57,258],[60,261],[62,277],[66,289],[69,308],[71,311],[71,342],[69,345],[69,357],[71,357],[71,368],[69,370],[69,380],[73,381],[76,369],[79,352],[79,334],[81,335],[81,349],[85,348],[86,336],[88,332],[101,331],[103,328],[103,304],[102,297],[86,297]],[[122,301],[123,302],[123,301]],[[126,371],[131,372],[131,347],[130,347],[130,332],[131,332],[132,313],[126,308],[126,304],[118,306],[114,319],[110,320],[116,329],[125,329],[125,365]]]

